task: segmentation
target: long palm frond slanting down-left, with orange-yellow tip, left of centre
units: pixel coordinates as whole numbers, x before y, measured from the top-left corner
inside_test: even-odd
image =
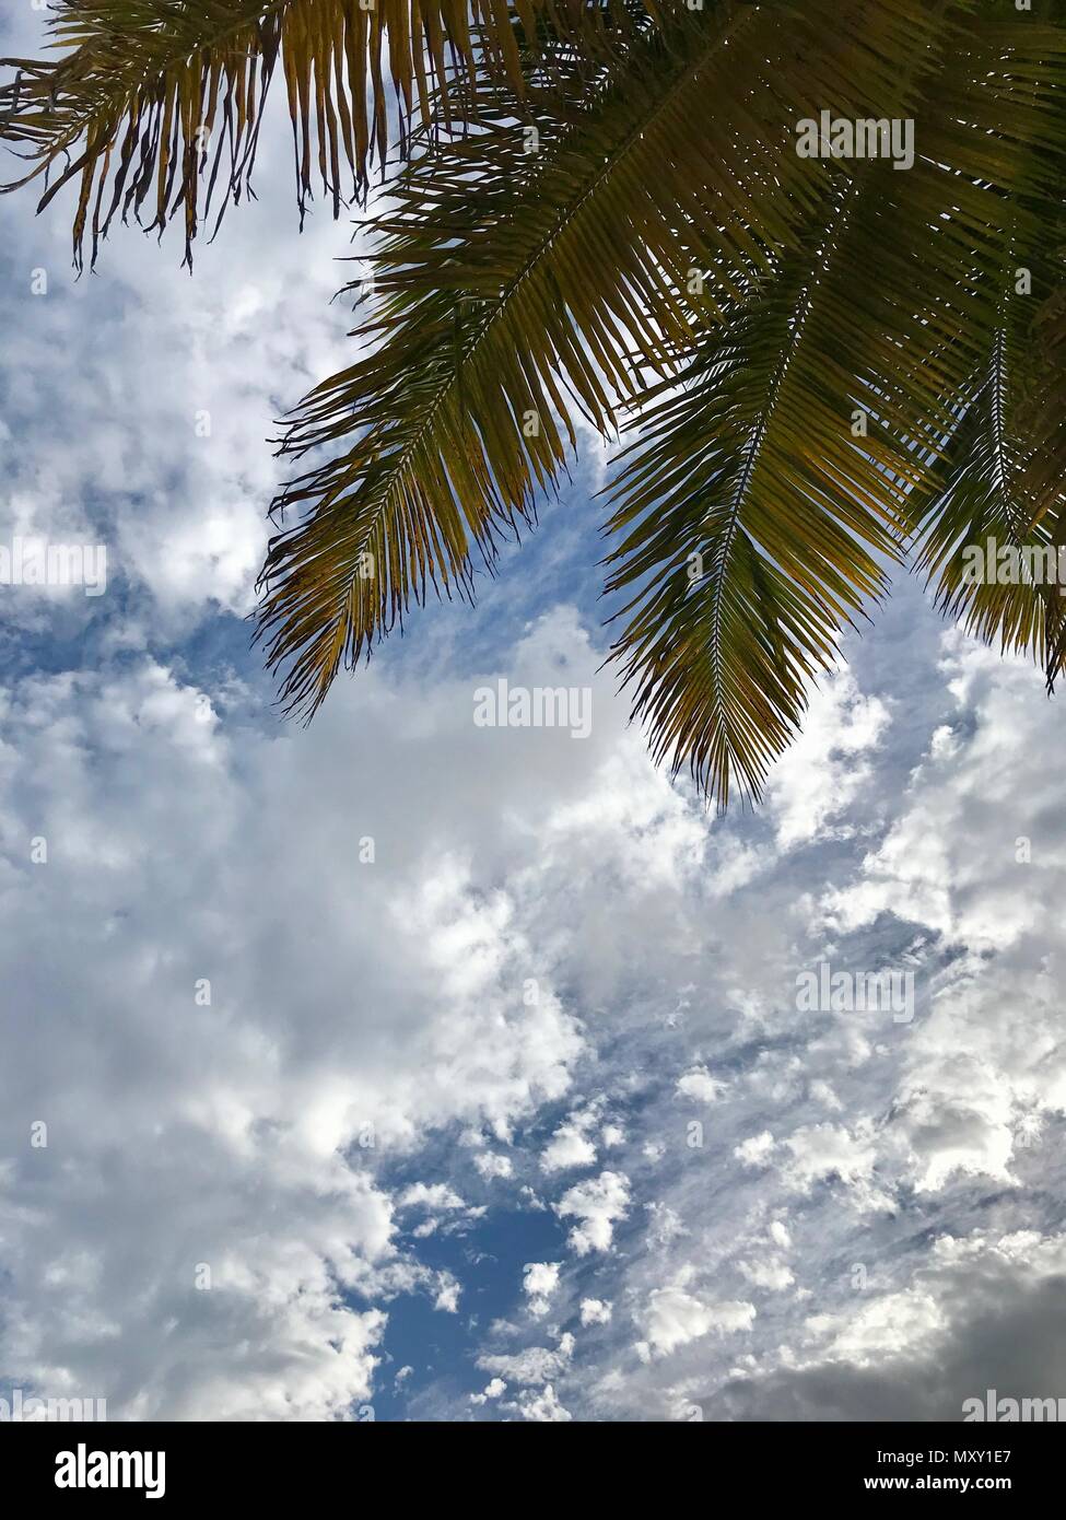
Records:
[[[610,433],[693,312],[721,319],[798,240],[826,173],[795,152],[797,112],[829,88],[847,106],[899,99],[893,59],[929,29],[917,0],[846,20],[830,0],[725,5],[639,35],[593,88],[474,91],[470,135],[411,166],[377,223],[385,298],[356,334],[377,347],[286,438],[290,454],[347,451],[278,503],[309,509],[263,578],[284,701],[313,711],[427,584],[468,588],[474,556],[557,477],[572,413]]]

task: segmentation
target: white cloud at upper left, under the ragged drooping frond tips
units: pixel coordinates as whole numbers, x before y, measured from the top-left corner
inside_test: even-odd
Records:
[[[5,52],[35,47],[40,12],[5,21],[23,33]],[[0,316],[5,363],[21,378],[5,412],[21,447],[5,448],[0,541],[18,527],[20,499],[53,540],[102,530],[109,585],[125,578],[149,599],[151,613],[128,611],[152,634],[249,611],[280,483],[274,420],[348,353],[348,313],[332,298],[351,228],[321,214],[298,234],[286,137],[284,114],[268,111],[259,199],[227,216],[214,245],[202,239],[193,278],[179,228],[155,246],[116,225],[99,277],[76,280],[71,190],[40,217],[32,187],[6,204],[20,278],[5,281]],[[46,295],[30,296],[32,269],[46,271]]]

